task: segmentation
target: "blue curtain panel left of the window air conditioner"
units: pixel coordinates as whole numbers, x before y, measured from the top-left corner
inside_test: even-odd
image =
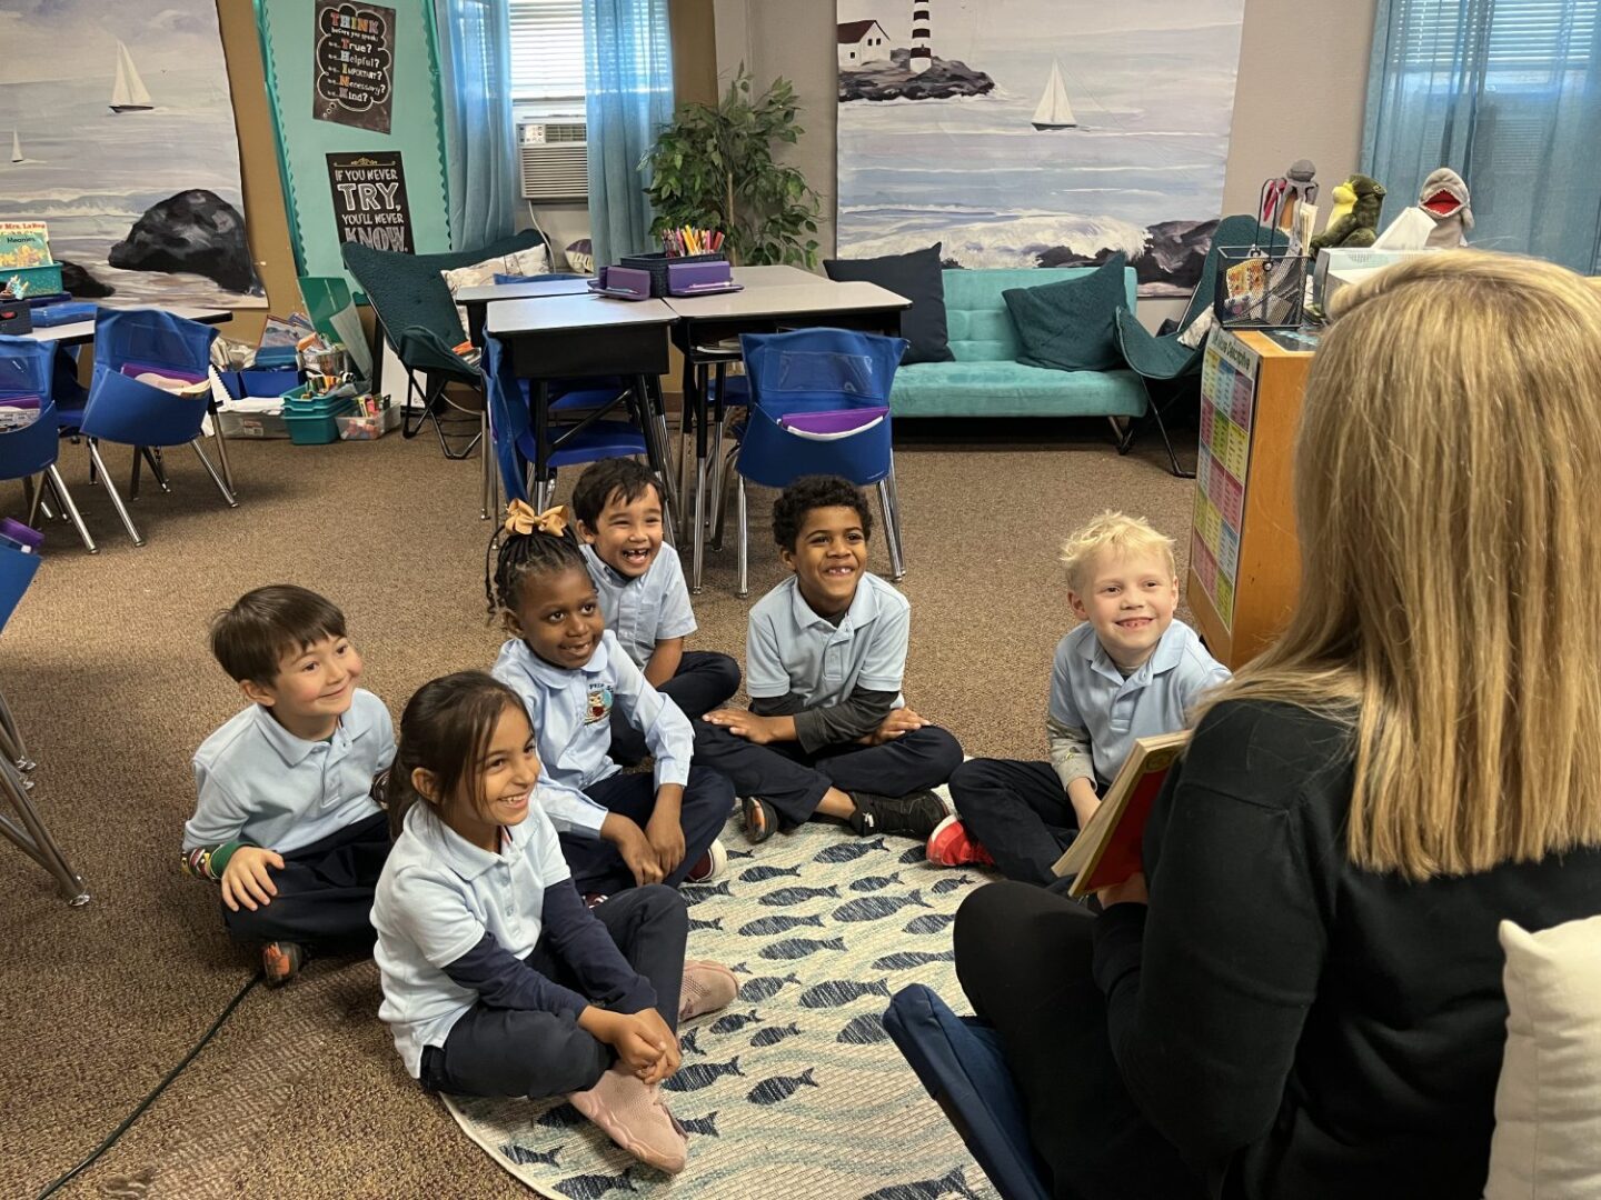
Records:
[[[474,250],[511,235],[517,224],[508,0],[434,0],[434,19],[450,248]]]

